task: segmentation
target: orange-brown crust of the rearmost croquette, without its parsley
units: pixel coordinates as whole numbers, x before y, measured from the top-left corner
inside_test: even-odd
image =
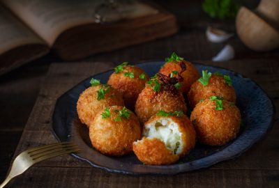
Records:
[[[197,68],[190,63],[189,61],[183,61],[186,63],[186,70],[181,73],[181,77],[183,77],[183,82],[182,86],[179,89],[182,91],[184,94],[187,94],[188,91],[190,90],[190,86],[197,80],[199,79],[200,75],[199,72],[197,71]],[[179,65],[179,62],[167,62],[165,65],[163,65],[162,68],[160,68],[160,71],[163,75],[169,75],[172,71],[181,71],[181,67]],[[177,77],[177,76],[175,76]]]

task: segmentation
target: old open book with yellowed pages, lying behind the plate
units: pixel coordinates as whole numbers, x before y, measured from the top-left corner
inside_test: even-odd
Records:
[[[53,49],[73,61],[176,33],[173,15],[135,2],[125,20],[98,24],[94,10],[105,0],[2,0],[0,75]]]

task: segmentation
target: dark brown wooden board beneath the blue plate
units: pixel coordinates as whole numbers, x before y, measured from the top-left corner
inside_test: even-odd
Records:
[[[278,61],[246,60],[212,63],[254,79],[279,107]],[[54,63],[43,81],[33,111],[17,146],[21,151],[56,139],[50,132],[57,97],[86,77],[112,68],[113,63]],[[107,173],[69,155],[36,164],[8,187],[277,187],[279,184],[279,122],[241,157],[209,169],[174,176],[132,176]]]

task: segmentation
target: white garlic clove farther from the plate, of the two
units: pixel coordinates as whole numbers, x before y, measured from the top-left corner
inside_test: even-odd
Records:
[[[234,36],[233,33],[226,33],[220,29],[212,28],[208,26],[206,29],[206,38],[210,42],[224,42]]]

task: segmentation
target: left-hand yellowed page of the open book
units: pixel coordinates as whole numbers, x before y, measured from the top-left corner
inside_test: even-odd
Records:
[[[22,24],[10,10],[0,4],[0,54],[28,44],[44,44],[35,33]]]

